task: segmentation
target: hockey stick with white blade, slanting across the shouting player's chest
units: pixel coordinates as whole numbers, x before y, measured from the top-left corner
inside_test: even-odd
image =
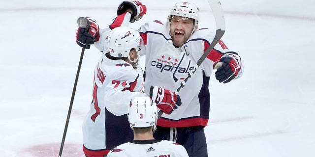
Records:
[[[213,12],[213,15],[215,17],[216,28],[217,28],[216,35],[215,35],[213,41],[211,42],[210,46],[207,48],[207,50],[202,54],[202,56],[197,61],[196,65],[194,66],[193,71],[190,71],[188,73],[188,76],[181,82],[180,86],[176,89],[176,91],[175,91],[176,95],[185,86],[185,84],[187,83],[189,78],[191,78],[191,76],[196,72],[198,67],[206,59],[208,54],[216,46],[216,44],[219,42],[219,40],[221,39],[221,37],[223,36],[223,34],[225,32],[225,20],[224,20],[223,9],[222,9],[220,0],[208,0],[208,3],[210,5],[212,12]],[[163,114],[162,110],[158,111],[158,118],[161,117],[162,114]]]

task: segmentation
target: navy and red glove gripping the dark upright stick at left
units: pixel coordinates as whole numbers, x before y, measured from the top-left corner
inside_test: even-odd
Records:
[[[76,42],[80,47],[90,49],[90,45],[99,39],[99,27],[94,19],[87,18],[90,26],[86,28],[79,27],[76,34]]]

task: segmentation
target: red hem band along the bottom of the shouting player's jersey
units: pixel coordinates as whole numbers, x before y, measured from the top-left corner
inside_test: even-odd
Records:
[[[207,126],[209,118],[188,118],[188,119],[180,119],[180,120],[172,120],[161,117],[158,119],[157,125],[160,127],[168,127],[168,128],[181,128],[181,127],[193,127],[193,126]]]

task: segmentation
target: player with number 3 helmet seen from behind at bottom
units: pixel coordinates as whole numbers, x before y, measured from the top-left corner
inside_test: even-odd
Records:
[[[153,137],[157,124],[157,105],[150,97],[133,98],[127,115],[133,130],[133,141],[117,146],[107,157],[188,157],[183,146]]]

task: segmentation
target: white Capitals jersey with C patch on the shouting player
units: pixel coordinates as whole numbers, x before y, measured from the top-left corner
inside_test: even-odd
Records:
[[[200,28],[181,48],[175,48],[169,35],[168,23],[156,20],[142,25],[139,30],[144,42],[141,55],[146,56],[145,93],[149,93],[151,85],[175,91],[189,71],[194,69],[215,36],[208,28]],[[182,105],[170,115],[162,114],[158,126],[207,126],[210,110],[209,78],[214,62],[225,52],[230,50],[220,40],[178,93]],[[236,78],[241,75],[242,71]]]

